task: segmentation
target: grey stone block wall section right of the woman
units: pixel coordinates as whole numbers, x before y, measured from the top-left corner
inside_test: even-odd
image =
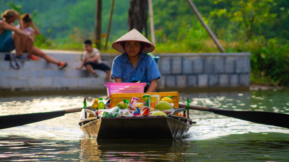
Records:
[[[161,55],[162,87],[249,87],[250,53]]]

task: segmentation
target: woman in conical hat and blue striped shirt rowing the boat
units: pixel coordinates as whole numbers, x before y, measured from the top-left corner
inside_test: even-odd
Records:
[[[114,82],[147,83],[144,92],[155,92],[157,80],[161,77],[157,63],[146,53],[154,50],[154,45],[136,29],[132,29],[111,45],[122,52],[113,60],[111,78]]]

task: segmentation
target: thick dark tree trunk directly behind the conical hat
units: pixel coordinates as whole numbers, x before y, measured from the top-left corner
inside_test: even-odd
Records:
[[[130,0],[128,28],[129,31],[137,29],[142,33],[143,28],[147,30],[148,0]],[[147,37],[147,31],[145,31]]]

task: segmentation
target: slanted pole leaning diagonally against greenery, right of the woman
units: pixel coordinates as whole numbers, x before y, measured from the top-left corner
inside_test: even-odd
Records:
[[[211,38],[213,39],[213,41],[215,42],[215,44],[217,45],[217,47],[219,48],[219,50],[221,52],[225,52],[224,48],[222,47],[222,45],[220,44],[220,42],[218,41],[218,39],[216,38],[216,36],[214,35],[214,33],[211,31],[211,29],[207,26],[207,24],[204,22],[204,20],[202,19],[200,13],[198,12],[197,8],[195,7],[194,3],[191,0],[187,0],[188,3],[190,4],[192,10],[194,11],[194,13],[197,15],[197,18],[199,19],[199,21],[201,22],[201,24],[205,27],[205,29],[207,30],[207,32],[209,33],[209,35],[211,36]]]

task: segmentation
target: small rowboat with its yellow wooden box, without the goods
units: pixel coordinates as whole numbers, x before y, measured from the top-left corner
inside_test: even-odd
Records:
[[[84,109],[85,113],[95,117],[81,119],[80,129],[86,137],[94,139],[180,139],[186,136],[192,124],[196,123],[191,118],[176,115],[186,111],[186,108],[179,108],[178,92],[108,94],[111,101],[107,109],[117,106],[123,99],[138,97],[142,100],[144,94],[171,96],[175,109],[167,116],[138,115],[108,118],[98,117],[95,109]]]

